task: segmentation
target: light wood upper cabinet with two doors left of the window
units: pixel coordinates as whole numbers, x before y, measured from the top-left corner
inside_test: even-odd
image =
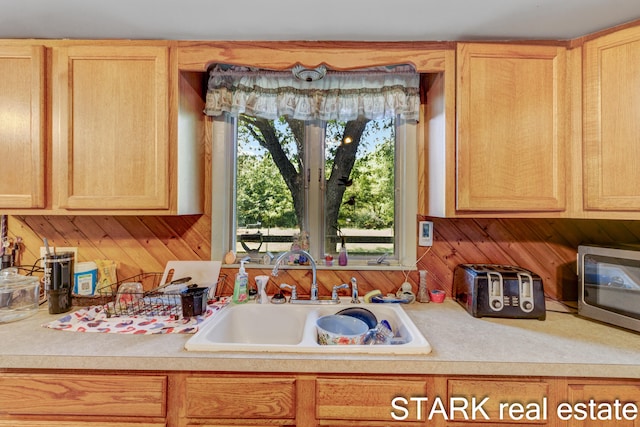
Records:
[[[0,46],[0,209],[202,213],[203,82],[175,57],[169,42]]]

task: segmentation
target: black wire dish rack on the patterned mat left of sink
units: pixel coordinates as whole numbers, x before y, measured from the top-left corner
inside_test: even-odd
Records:
[[[191,315],[193,299],[185,301],[181,293],[165,293],[160,281],[163,273],[141,273],[124,280],[103,286],[96,290],[95,295],[77,298],[76,305],[102,305],[107,317],[115,316],[169,316],[179,319]],[[215,289],[221,289],[226,275],[220,275]],[[134,290],[132,290],[134,289]],[[145,289],[148,289],[145,291]],[[201,289],[201,288],[198,288]],[[204,288],[203,297],[206,307],[209,299],[209,288]],[[211,296],[212,298],[214,296]],[[191,298],[194,298],[191,296]],[[188,313],[187,313],[188,311]]]

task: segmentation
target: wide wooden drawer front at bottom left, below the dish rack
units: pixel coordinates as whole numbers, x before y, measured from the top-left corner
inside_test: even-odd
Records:
[[[5,373],[0,390],[0,426],[166,426],[165,375]]]

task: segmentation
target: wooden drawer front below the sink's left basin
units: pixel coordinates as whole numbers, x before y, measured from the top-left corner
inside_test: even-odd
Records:
[[[190,418],[285,418],[296,416],[294,378],[187,378]]]

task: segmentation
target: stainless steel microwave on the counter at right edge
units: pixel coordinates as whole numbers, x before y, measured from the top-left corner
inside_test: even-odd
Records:
[[[578,314],[640,332],[640,245],[578,247]]]

